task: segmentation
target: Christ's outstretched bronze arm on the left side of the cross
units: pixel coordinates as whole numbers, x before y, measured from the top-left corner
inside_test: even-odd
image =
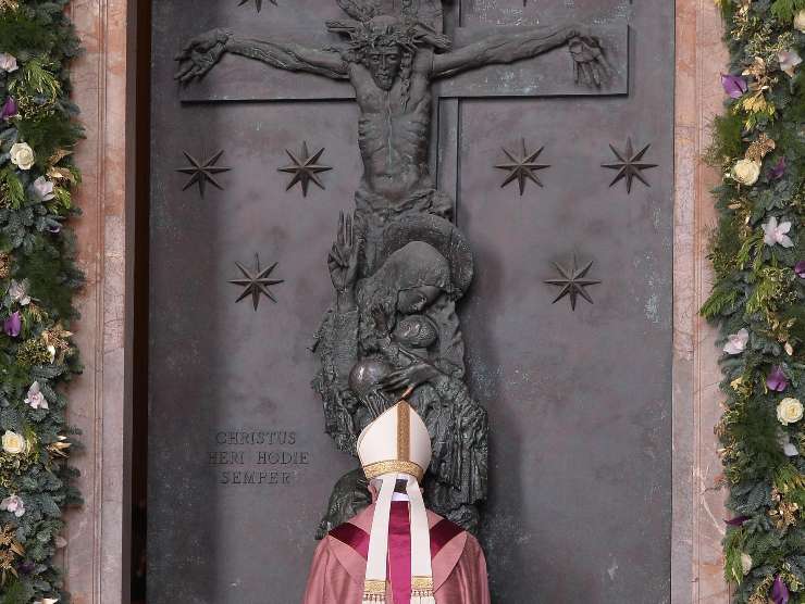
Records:
[[[278,70],[308,72],[332,79],[348,77],[347,65],[337,52],[295,42],[239,38],[228,29],[212,29],[193,38],[176,55],[181,66],[175,78],[187,83],[203,77],[225,52],[262,61]]]

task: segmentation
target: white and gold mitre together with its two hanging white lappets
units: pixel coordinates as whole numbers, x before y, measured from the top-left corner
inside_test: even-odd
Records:
[[[358,437],[363,471],[377,488],[369,536],[363,604],[386,602],[388,520],[398,480],[406,482],[411,521],[411,604],[435,604],[428,512],[419,483],[431,463],[431,437],[419,414],[400,401]]]

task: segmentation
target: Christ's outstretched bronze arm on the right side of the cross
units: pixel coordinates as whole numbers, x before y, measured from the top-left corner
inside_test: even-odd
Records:
[[[529,27],[494,34],[451,52],[434,54],[433,77],[449,76],[494,63],[513,63],[544,54],[567,45],[573,56],[575,81],[599,86],[611,71],[598,38],[586,28],[569,25],[560,28]]]

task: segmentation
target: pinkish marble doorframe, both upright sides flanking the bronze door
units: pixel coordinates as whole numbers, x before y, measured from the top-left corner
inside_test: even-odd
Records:
[[[721,471],[713,435],[721,413],[719,355],[714,330],[697,315],[710,287],[706,253],[716,216],[708,191],[718,179],[701,158],[711,116],[722,108],[718,76],[727,53],[711,0],[676,3],[671,602],[728,604],[723,493],[713,490]],[[75,604],[128,602],[135,4],[74,0],[70,8],[86,49],[73,74],[87,130],[76,153],[84,215],[75,224],[87,276],[76,329],[85,373],[71,388],[70,412],[70,421],[84,431],[85,451],[73,462],[86,504],[69,515],[63,554]]]

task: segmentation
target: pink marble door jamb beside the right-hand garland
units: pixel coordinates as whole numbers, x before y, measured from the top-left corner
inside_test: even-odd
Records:
[[[704,165],[713,116],[722,110],[727,64],[721,20],[710,0],[677,0],[676,250],[673,377],[673,603],[729,602],[721,539],[725,493],[714,427],[721,415],[716,334],[697,315],[711,284],[708,234],[716,212]]]

